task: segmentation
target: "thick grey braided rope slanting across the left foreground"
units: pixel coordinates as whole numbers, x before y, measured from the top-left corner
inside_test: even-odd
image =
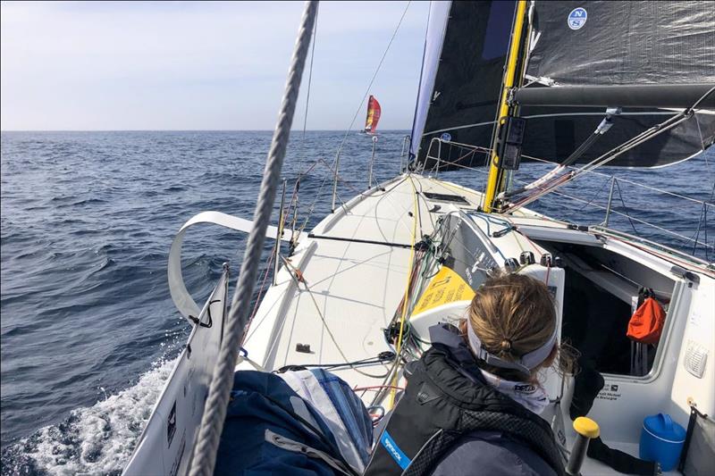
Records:
[[[275,191],[281,179],[283,157],[288,146],[293,113],[295,113],[296,104],[298,103],[300,79],[307,59],[317,6],[318,3],[315,0],[307,2],[300,23],[299,37],[290,63],[278,123],[265,161],[264,178],[261,182],[256,211],[253,217],[254,228],[248,236],[248,244],[243,263],[241,263],[238,284],[231,300],[231,311],[226,321],[223,345],[214,367],[214,375],[206,398],[193,463],[189,472],[191,476],[210,476],[214,474],[216,451],[223,431],[223,422],[226,418],[226,409],[233,383],[233,372],[238,359],[236,349],[239,348],[243,330],[246,322],[248,322],[250,300],[256,283],[258,263],[263,251],[265,230],[271,219]]]

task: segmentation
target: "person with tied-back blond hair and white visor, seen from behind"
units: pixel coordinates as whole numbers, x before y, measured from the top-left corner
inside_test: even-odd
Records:
[[[459,328],[430,329],[432,347],[406,366],[366,475],[561,475],[549,397],[537,376],[559,356],[556,306],[539,280],[488,278]]]

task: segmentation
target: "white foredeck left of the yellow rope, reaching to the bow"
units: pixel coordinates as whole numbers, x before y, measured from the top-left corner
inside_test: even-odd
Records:
[[[432,233],[442,213],[456,210],[424,192],[461,196],[465,201],[458,205],[467,209],[475,209],[481,197],[447,182],[403,175],[342,205],[300,240],[290,265],[282,267],[248,331],[249,357],[275,370],[354,362],[391,350],[383,329],[405,293],[410,248]],[[293,269],[305,282],[296,282]],[[310,346],[309,352],[298,350],[299,344]],[[388,368],[359,370],[379,376]],[[345,366],[332,372],[353,387],[383,382]]]

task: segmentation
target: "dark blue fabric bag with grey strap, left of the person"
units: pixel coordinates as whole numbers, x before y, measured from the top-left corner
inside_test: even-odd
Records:
[[[354,411],[369,422],[361,404]],[[341,455],[321,410],[285,380],[267,372],[235,373],[214,476],[358,473]]]

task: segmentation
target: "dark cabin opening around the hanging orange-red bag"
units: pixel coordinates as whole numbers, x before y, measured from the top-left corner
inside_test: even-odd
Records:
[[[566,271],[561,336],[576,347],[579,365],[645,378],[656,365],[662,336],[656,344],[635,342],[627,337],[628,322],[641,288],[652,289],[667,313],[675,281],[601,247],[552,241],[539,245],[559,256]]]

